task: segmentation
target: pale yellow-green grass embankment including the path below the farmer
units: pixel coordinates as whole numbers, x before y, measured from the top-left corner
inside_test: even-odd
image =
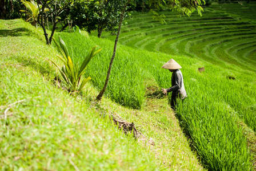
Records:
[[[0,23],[1,169],[203,170],[165,99],[146,100],[141,111],[106,98],[100,106],[74,99],[53,86],[58,72],[47,59],[57,60],[57,51],[43,32],[21,20]],[[90,84],[86,89],[95,98]],[[141,143],[99,111],[140,125]]]

